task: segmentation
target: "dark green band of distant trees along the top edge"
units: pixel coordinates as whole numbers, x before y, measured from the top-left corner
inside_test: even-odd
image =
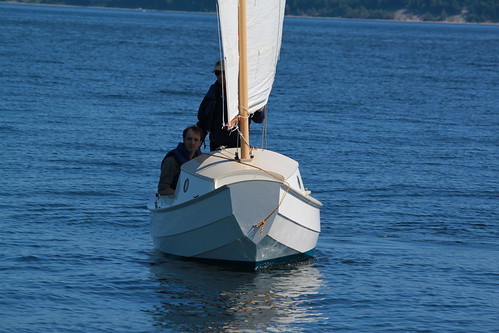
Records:
[[[0,0],[5,1],[5,0]],[[38,4],[214,12],[215,0],[19,0]],[[396,19],[396,12],[424,21],[461,15],[466,22],[499,22],[497,0],[287,0],[286,15],[360,19]]]

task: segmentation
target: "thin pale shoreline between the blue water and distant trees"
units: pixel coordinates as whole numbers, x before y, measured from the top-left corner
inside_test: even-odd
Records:
[[[20,1],[0,1],[0,4],[16,4],[16,5],[31,5],[31,6],[52,6],[52,7],[70,7],[70,8],[95,8],[95,9],[115,9],[115,10],[131,10],[144,12],[166,12],[166,13],[196,13],[196,14],[216,14],[215,12],[197,12],[197,11],[180,11],[180,10],[164,10],[164,9],[142,9],[142,8],[126,8],[126,7],[99,7],[99,6],[77,6],[77,5],[61,5],[50,3],[28,3]],[[324,20],[348,20],[348,21],[375,21],[375,22],[402,22],[402,23],[439,23],[439,24],[466,24],[466,25],[499,25],[495,22],[466,22],[464,19],[459,19],[459,16],[452,16],[445,21],[425,21],[415,15],[404,15],[403,11],[397,11],[395,15],[398,18],[393,19],[366,19],[366,18],[350,18],[350,17],[329,17],[329,16],[309,16],[309,15],[286,15],[286,17],[305,18],[305,19],[324,19]]]

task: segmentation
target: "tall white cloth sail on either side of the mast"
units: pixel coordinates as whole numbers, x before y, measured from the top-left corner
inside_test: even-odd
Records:
[[[267,104],[272,90],[281,50],[285,2],[285,0],[248,0],[246,3],[250,114]],[[218,0],[227,85],[229,119],[226,121],[239,114],[238,3],[237,0]]]

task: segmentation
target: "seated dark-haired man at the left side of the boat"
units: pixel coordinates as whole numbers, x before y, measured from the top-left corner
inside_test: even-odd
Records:
[[[166,154],[161,162],[161,175],[159,176],[158,194],[173,195],[180,176],[180,166],[187,161],[201,155],[201,140],[203,130],[197,126],[189,126],[182,133],[183,142],[177,148]]]

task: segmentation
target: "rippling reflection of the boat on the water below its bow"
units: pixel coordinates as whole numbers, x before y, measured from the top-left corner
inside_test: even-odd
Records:
[[[313,261],[242,272],[161,257],[153,258],[151,270],[160,282],[160,304],[147,312],[158,327],[292,331],[296,325],[327,321],[319,312],[323,277]]]

